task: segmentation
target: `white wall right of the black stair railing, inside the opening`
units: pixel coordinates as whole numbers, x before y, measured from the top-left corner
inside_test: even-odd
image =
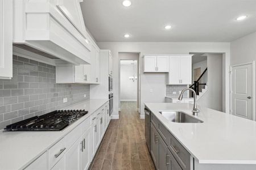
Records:
[[[222,111],[222,54],[207,54],[208,91],[198,104]]]

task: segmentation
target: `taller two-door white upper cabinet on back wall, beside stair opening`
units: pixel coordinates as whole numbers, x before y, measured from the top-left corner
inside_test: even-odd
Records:
[[[170,56],[168,84],[191,84],[192,56]]]

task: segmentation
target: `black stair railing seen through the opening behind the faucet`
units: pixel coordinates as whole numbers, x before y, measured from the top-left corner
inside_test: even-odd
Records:
[[[195,90],[196,95],[199,95],[199,92],[202,92],[202,89],[205,88],[208,81],[208,71],[207,68],[204,70],[204,72],[200,75],[200,77],[194,81],[194,83],[189,87]],[[191,92],[191,97],[193,97],[193,93]]]

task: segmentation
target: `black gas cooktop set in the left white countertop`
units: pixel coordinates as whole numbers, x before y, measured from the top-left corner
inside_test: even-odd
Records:
[[[53,111],[6,126],[5,131],[60,131],[84,116],[88,111]]]

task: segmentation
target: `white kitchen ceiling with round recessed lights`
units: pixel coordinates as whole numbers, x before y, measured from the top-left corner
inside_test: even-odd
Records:
[[[256,0],[84,0],[96,41],[230,42],[256,31]],[[238,22],[236,18],[247,15]],[[171,24],[169,31],[164,30]],[[131,37],[125,39],[123,35]]]

